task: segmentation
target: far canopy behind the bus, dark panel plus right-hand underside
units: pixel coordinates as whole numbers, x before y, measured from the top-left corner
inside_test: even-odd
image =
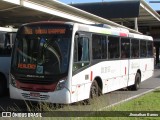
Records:
[[[144,0],[105,1],[71,5],[124,26],[133,26],[135,18],[138,18],[137,22],[140,26],[160,25],[160,15]]]

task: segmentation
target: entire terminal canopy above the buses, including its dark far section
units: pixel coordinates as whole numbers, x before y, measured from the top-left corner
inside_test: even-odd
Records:
[[[35,21],[74,21],[85,24],[103,23],[139,34],[141,31],[135,28],[156,26],[160,22],[160,15],[144,0],[112,0],[72,6],[57,0],[0,0],[0,15],[1,27],[18,27]],[[138,18],[138,26],[135,18]]]

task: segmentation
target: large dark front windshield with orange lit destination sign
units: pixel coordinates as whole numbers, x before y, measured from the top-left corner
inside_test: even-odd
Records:
[[[69,25],[28,25],[17,33],[12,70],[22,74],[68,72],[72,28]]]

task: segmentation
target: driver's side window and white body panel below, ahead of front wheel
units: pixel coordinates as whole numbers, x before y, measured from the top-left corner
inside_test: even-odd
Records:
[[[72,91],[73,101],[86,99],[89,95],[90,83],[90,34],[78,32],[74,41],[74,62]]]

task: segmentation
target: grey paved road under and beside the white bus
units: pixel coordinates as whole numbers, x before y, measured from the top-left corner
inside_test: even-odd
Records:
[[[69,110],[69,111],[94,111],[94,110],[103,110],[109,105],[116,104],[125,99],[137,96],[139,94],[145,93],[160,86],[160,70],[155,69],[154,76],[144,82],[142,82],[141,87],[138,91],[126,91],[118,90],[105,95],[100,96],[96,102],[93,102],[91,105],[81,105],[81,104],[72,104],[64,106],[63,108],[58,108],[55,110]],[[33,106],[37,110],[37,106]],[[27,106],[24,101],[20,100],[11,100],[9,96],[0,98],[0,110],[2,111],[11,111],[18,110],[24,111],[27,110]]]

